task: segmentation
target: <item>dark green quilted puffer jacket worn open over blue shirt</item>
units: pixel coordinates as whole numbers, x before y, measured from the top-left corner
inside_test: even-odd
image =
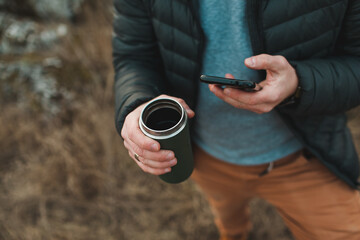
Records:
[[[352,187],[359,161],[345,111],[360,104],[360,0],[251,0],[254,54],[283,55],[302,96],[277,107],[306,148]],[[203,46],[197,0],[114,0],[115,118],[160,94],[196,104]],[[224,13],[226,14],[226,13]]]

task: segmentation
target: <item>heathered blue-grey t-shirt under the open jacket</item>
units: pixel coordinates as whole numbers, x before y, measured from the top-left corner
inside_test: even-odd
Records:
[[[261,81],[244,65],[253,55],[246,1],[199,0],[206,36],[202,74]],[[240,165],[268,163],[302,148],[276,111],[256,114],[223,102],[200,83],[193,140],[214,157]]]

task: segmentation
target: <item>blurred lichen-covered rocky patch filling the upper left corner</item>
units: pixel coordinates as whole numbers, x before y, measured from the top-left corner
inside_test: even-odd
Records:
[[[0,0],[0,106],[13,103],[50,115],[69,108],[72,88],[64,85],[72,86],[77,76],[71,71],[82,69],[63,62],[58,50],[72,24],[66,20],[83,2]]]

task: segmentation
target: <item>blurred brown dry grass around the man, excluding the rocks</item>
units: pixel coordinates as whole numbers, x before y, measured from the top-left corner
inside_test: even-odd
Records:
[[[87,5],[85,20],[70,26],[72,34],[54,52],[70,63],[59,84],[72,89],[73,104],[51,119],[0,107],[0,240],[215,240],[196,186],[168,185],[141,172],[115,131],[107,6]],[[353,111],[356,139],[359,119]],[[291,239],[272,207],[256,199],[251,208],[251,239]]]

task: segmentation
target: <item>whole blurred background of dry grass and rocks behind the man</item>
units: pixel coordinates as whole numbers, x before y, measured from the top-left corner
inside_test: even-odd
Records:
[[[163,183],[124,150],[111,32],[111,0],[0,0],[0,240],[217,239],[193,182]],[[274,208],[251,208],[250,239],[292,239]]]

